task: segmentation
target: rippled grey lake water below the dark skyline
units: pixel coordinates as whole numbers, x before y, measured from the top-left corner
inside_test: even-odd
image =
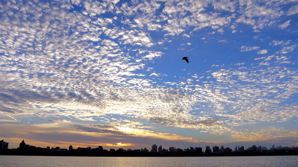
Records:
[[[298,156],[51,157],[0,155],[1,167],[297,167]]]

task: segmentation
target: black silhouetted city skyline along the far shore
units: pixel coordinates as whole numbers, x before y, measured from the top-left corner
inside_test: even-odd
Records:
[[[4,146],[5,145],[5,146]],[[97,156],[97,157],[200,157],[200,156],[276,156],[276,155],[297,155],[298,147],[275,147],[272,145],[270,149],[266,146],[253,145],[247,149],[244,146],[235,146],[234,150],[224,146],[206,146],[205,151],[202,147],[190,147],[181,149],[169,147],[169,149],[153,144],[151,150],[146,147],[143,149],[104,149],[102,146],[92,147],[77,147],[69,145],[68,149],[60,148],[59,146],[36,147],[26,144],[23,140],[17,149],[7,149],[8,143],[4,140],[0,141],[0,155],[38,155],[38,156]]]

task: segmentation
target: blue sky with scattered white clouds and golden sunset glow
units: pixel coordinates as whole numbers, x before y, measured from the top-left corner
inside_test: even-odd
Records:
[[[297,0],[0,1],[0,138],[296,147],[297,27]]]

